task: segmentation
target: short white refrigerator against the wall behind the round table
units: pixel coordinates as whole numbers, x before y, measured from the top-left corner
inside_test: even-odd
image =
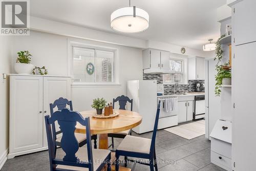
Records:
[[[133,131],[137,134],[153,131],[157,111],[157,81],[127,81],[127,96],[133,99],[133,111],[142,116],[142,123]]]

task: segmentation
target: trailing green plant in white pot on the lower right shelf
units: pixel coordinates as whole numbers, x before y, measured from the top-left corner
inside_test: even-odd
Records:
[[[229,63],[224,63],[224,65],[216,66],[216,71],[217,71],[217,75],[215,75],[215,80],[216,80],[215,95],[216,96],[220,96],[221,94],[220,86],[231,85],[231,70],[223,68],[223,66],[227,66],[227,65],[229,65]]]

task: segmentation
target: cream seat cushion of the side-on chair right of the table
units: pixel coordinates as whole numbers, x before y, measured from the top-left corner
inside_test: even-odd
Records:
[[[151,139],[127,135],[117,150],[150,154]]]

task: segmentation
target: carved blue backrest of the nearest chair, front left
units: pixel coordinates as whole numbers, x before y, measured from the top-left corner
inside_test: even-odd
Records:
[[[55,146],[51,126],[54,125],[56,121],[60,125],[60,130],[62,131],[61,148],[66,153],[66,156],[63,157],[62,160],[56,159],[56,154],[54,152]],[[78,141],[75,137],[75,126],[77,122],[86,127],[86,135],[84,136],[87,138],[88,161],[78,159],[75,155],[79,148]],[[89,170],[93,170],[92,142],[89,118],[83,119],[83,117],[78,112],[70,111],[69,109],[64,108],[61,111],[54,112],[51,117],[49,115],[45,116],[45,123],[51,170],[56,167],[56,164],[87,167]]]

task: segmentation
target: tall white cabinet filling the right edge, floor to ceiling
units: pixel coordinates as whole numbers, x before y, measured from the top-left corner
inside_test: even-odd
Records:
[[[256,1],[232,6],[232,170],[255,170]]]

